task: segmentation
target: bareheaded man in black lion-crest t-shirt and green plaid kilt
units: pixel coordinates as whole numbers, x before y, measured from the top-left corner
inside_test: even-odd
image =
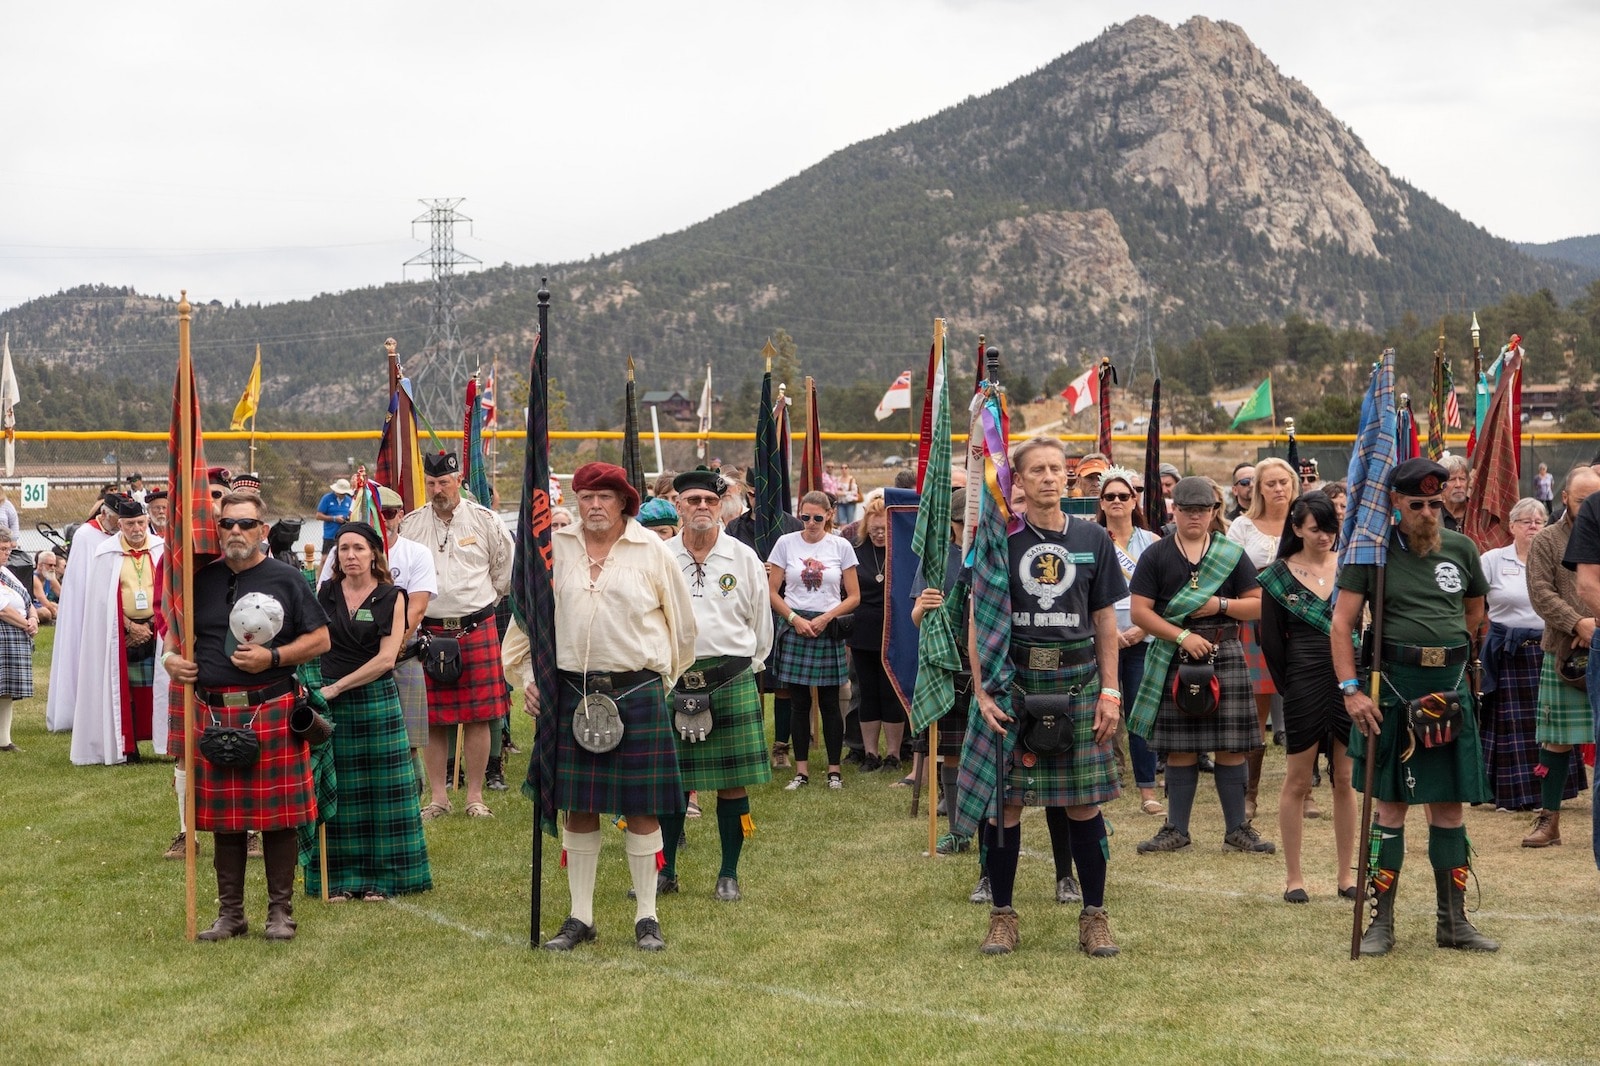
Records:
[[[1117,600],[1128,584],[1106,530],[1061,509],[1067,451],[1053,437],[1018,445],[1011,459],[1027,503],[1021,525],[989,555],[979,530],[973,567],[968,653],[1003,642],[1010,669],[982,671],[973,687],[973,714],[962,751],[954,832],[971,836],[981,823],[992,892],[984,954],[1008,954],[1019,943],[1011,906],[1022,850],[1022,807],[1066,807],[1072,860],[1083,911],[1078,948],[1115,956],[1106,914],[1109,848],[1099,805],[1118,794],[1112,739],[1122,719],[1117,691]],[[986,501],[987,503],[987,501]],[[1002,562],[1003,559],[1003,562]],[[1003,567],[995,573],[997,567]],[[995,746],[1000,751],[995,751]],[[997,762],[1005,768],[1003,779]],[[1003,820],[994,821],[1003,789]]]

